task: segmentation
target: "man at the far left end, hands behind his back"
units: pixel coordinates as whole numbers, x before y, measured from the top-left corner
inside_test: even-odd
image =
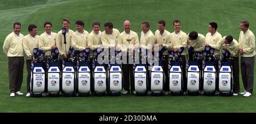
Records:
[[[15,93],[23,95],[20,87],[23,80],[24,51],[22,47],[23,35],[20,33],[21,24],[15,22],[13,32],[11,32],[3,42],[3,53],[8,57],[9,68],[9,89],[10,97],[15,97]]]

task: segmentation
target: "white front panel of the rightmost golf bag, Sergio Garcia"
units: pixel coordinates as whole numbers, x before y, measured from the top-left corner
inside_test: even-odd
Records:
[[[223,93],[229,93],[232,91],[232,70],[230,66],[222,66],[219,74],[219,90]]]

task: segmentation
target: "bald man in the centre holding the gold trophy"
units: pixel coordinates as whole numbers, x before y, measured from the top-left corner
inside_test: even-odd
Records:
[[[133,51],[136,45],[139,45],[139,37],[136,32],[131,31],[131,23],[129,20],[123,22],[123,31],[118,37],[118,48],[123,52],[123,83],[124,89],[123,94],[130,93],[130,91],[136,94],[134,88],[134,78],[133,78]],[[131,85],[131,90],[130,90]]]

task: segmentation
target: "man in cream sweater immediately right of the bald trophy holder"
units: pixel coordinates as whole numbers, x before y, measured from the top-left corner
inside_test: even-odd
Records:
[[[147,21],[142,22],[141,29],[141,47],[147,50],[152,50],[156,42],[154,34],[150,31],[150,23]],[[148,76],[148,80],[150,80],[150,76]],[[148,88],[147,95],[150,95],[151,93],[152,91]]]

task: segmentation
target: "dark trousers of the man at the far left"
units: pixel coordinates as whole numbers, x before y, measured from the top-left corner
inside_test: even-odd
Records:
[[[9,89],[11,93],[20,91],[23,80],[24,57],[8,57]]]

